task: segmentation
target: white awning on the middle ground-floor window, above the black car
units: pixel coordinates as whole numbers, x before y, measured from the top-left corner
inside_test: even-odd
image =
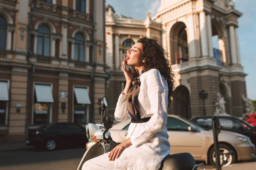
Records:
[[[35,85],[37,102],[53,102],[52,89],[49,85]]]

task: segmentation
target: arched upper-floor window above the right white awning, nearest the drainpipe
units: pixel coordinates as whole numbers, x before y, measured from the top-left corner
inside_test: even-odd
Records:
[[[84,36],[81,34],[75,35],[75,60],[84,62]]]

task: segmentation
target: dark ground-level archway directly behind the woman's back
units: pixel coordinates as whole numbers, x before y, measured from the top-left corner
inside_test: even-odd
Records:
[[[172,114],[182,116],[186,119],[191,118],[190,93],[185,85],[179,85],[175,88],[172,101]]]

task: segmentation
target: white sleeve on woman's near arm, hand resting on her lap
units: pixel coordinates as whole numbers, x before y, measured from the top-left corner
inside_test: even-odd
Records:
[[[154,69],[152,74],[148,74],[146,77],[146,83],[151,105],[150,113],[153,113],[153,116],[137,133],[131,135],[130,139],[134,147],[143,144],[155,133],[162,131],[167,122],[168,84],[166,80],[161,77],[158,70]]]

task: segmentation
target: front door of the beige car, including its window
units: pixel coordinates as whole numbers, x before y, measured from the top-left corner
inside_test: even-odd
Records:
[[[204,150],[204,135],[201,132],[190,132],[190,125],[175,117],[168,117],[167,130],[171,144],[170,154],[188,152],[197,159]]]

